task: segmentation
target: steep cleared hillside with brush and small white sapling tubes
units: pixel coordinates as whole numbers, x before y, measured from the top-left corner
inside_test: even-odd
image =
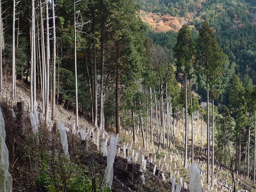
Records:
[[[10,110],[10,85],[11,83],[4,83],[4,91],[1,93],[0,101],[6,125],[6,143],[9,148],[13,191],[102,190],[107,166],[107,158],[102,156],[103,141],[105,141],[105,138],[110,139],[110,136],[114,133],[98,134],[95,127],[85,119],[80,118],[81,129],[86,132],[87,142],[84,142],[78,135],[71,134],[69,131],[69,127],[72,126],[74,121],[74,114],[58,106],[56,111],[57,122],[64,122],[67,129],[69,161],[62,152],[60,135],[57,130],[45,129],[42,123],[38,134],[31,133],[28,118],[29,89],[27,85],[17,82],[17,99],[15,99],[15,102],[24,101],[26,109],[26,129],[20,130],[20,125],[15,123]],[[203,137],[206,131],[205,123],[199,121],[200,118],[197,115],[195,119],[197,121],[194,125],[194,161],[201,171],[200,179],[204,191],[230,191],[234,186],[241,191],[242,189],[256,191],[251,180],[232,173],[229,167],[221,164],[215,164],[214,166],[214,189],[210,189],[210,186],[206,184],[205,174],[206,147],[205,138]],[[51,123],[49,125],[51,128]],[[89,132],[87,132],[86,127],[89,128]],[[189,186],[189,171],[188,167],[183,167],[184,126],[182,125],[182,119],[175,123],[174,129],[175,137],[172,139],[171,147],[166,149],[165,146],[161,145],[162,149],[160,151],[157,151],[158,141],[154,141],[154,145],[151,145],[150,140],[146,139],[143,147],[139,132],[137,133],[137,142],[133,143],[131,130],[122,130],[117,145],[111,190],[168,191],[173,186],[181,185],[181,191],[189,191],[187,189]],[[191,151],[189,151],[189,156],[190,153]],[[130,161],[133,161],[134,165],[132,182],[129,180],[130,173],[126,171],[127,163]],[[189,157],[188,162],[190,161],[191,157]],[[140,170],[140,167],[142,170]],[[145,177],[145,183],[141,178],[142,173]],[[108,190],[104,189],[103,191]]]

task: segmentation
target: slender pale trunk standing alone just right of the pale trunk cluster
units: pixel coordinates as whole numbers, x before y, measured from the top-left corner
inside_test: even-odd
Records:
[[[78,94],[77,94],[77,65],[76,65],[76,6],[74,0],[74,57],[75,57],[75,90],[76,90],[76,130],[78,130]]]

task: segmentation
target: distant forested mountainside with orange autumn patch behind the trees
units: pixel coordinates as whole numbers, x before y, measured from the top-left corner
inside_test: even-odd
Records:
[[[176,41],[175,34],[182,25],[190,26],[196,39],[202,21],[208,21],[218,43],[228,56],[229,64],[225,69],[227,73],[235,70],[235,74],[242,79],[244,85],[249,79],[252,79],[254,85],[256,84],[255,0],[135,0],[135,2],[140,4],[139,17],[151,28],[149,37],[155,44],[167,47],[170,54]],[[229,81],[230,79],[225,80],[227,83]],[[196,91],[201,92],[197,89]],[[227,97],[228,93],[225,94]]]

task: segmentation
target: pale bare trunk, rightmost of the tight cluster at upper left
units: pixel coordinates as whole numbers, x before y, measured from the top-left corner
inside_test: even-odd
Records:
[[[55,120],[55,97],[56,97],[56,33],[55,33],[55,8],[54,0],[52,0],[52,121]]]

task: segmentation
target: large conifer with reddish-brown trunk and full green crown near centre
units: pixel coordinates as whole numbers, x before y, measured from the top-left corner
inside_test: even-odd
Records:
[[[109,3],[111,26],[107,31],[111,37],[111,50],[113,52],[111,70],[115,71],[115,104],[116,104],[116,133],[121,134],[121,83],[122,76],[135,74],[140,69],[140,45],[143,40],[141,21],[136,17],[136,7],[133,1],[114,1]],[[122,4],[123,6],[119,6]],[[114,65],[113,65],[114,64]],[[114,67],[114,68],[113,68]]]

